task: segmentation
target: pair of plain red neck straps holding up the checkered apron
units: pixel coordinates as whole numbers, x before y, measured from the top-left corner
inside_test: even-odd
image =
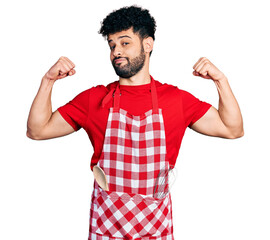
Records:
[[[158,114],[158,99],[157,99],[157,90],[156,90],[156,84],[154,78],[150,75],[151,77],[151,97],[152,97],[152,108],[153,108],[153,113]],[[113,93],[113,112],[119,112],[120,109],[120,87],[119,87],[119,81],[117,83],[116,89]]]

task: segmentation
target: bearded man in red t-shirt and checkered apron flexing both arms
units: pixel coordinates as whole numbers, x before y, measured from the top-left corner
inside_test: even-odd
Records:
[[[85,90],[52,113],[53,84],[75,74],[74,63],[60,57],[42,78],[29,113],[27,136],[32,139],[80,128],[90,138],[91,169],[103,169],[109,191],[94,182],[89,239],[173,239],[170,193],[160,195],[164,188],[158,177],[174,167],[186,128],[230,139],[244,134],[228,79],[207,58],[195,63],[193,74],[214,81],[218,110],[150,75],[155,29],[148,10],[131,6],[112,12],[100,33],[119,80]]]

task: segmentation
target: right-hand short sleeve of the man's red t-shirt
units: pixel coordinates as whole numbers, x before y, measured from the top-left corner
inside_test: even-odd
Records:
[[[201,101],[191,93],[182,91],[183,113],[185,117],[185,127],[191,127],[198,121],[212,106]]]

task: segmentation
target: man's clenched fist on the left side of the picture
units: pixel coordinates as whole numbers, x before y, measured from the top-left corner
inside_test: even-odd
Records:
[[[59,60],[45,74],[49,80],[56,81],[66,76],[71,76],[76,73],[75,65],[67,57],[60,57]]]

